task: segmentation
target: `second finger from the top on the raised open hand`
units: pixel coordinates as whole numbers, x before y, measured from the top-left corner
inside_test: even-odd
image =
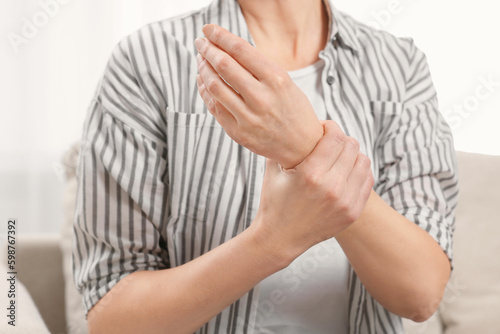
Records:
[[[233,57],[209,42],[206,38],[195,40],[196,48],[212,68],[227,84],[235,89],[246,100],[246,92],[255,91],[259,81],[246,68],[241,66]]]

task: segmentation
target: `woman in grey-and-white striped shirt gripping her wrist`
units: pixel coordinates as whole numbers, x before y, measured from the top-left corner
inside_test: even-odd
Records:
[[[457,180],[425,57],[331,3],[216,0],[146,26],[84,140],[91,332],[401,333],[439,304]]]

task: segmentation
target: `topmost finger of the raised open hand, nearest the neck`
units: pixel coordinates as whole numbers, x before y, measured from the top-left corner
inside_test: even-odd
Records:
[[[274,63],[250,43],[224,28],[215,24],[207,24],[203,27],[203,33],[210,42],[233,57],[257,79],[267,78],[268,74],[275,69]]]

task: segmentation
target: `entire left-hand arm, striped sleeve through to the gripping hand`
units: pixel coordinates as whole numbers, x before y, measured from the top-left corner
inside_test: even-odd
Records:
[[[128,49],[125,44],[115,50],[87,117],[74,228],[75,280],[90,309],[91,333],[192,333],[311,245],[351,224],[373,184],[369,161],[358,161],[355,142],[334,122],[324,129],[319,124],[325,136],[314,149],[318,154],[308,153],[307,161],[289,173],[268,161],[262,203],[245,232],[169,268],[161,245],[168,239],[168,161],[164,138],[155,131],[165,124],[161,110],[151,107],[161,101],[148,101],[138,87],[142,78],[133,75]],[[134,94],[127,94],[131,89]],[[320,182],[324,179],[350,186],[333,191]],[[339,205],[342,194],[358,200]],[[334,219],[311,231],[307,223],[321,217]]]

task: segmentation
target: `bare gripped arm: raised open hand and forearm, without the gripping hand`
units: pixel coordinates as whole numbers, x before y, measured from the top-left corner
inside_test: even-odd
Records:
[[[267,126],[265,131],[271,137],[281,136],[281,141],[275,140],[277,144],[273,148],[278,152],[287,151],[289,146],[314,142],[292,142],[293,137],[290,139],[288,135],[280,135],[280,131],[286,129],[289,123],[291,128],[300,126],[295,125],[294,121],[300,124],[300,113],[304,111],[304,108],[295,107],[301,105],[296,100],[301,101],[303,94],[296,91],[286,72],[265,60],[248,43],[220,27],[206,26],[204,32],[208,41],[198,42],[201,54],[200,92],[209,110],[228,134],[236,133],[233,139],[242,145],[251,138],[251,148],[268,157],[271,157],[266,151],[269,146],[266,143],[260,146],[256,144],[258,138],[252,139],[252,133],[255,133],[252,126],[242,129],[240,123],[250,123],[257,128]],[[265,88],[262,89],[262,86]],[[255,91],[259,94],[255,94]],[[269,94],[273,93],[273,97],[270,97]],[[238,104],[233,103],[235,100],[239,101]],[[285,107],[282,105],[285,103],[283,100],[288,102]],[[265,110],[259,110],[263,104],[266,106]],[[274,105],[275,108],[269,105]],[[292,121],[282,118],[283,124],[267,121],[269,115],[261,116],[274,113],[274,117],[279,118],[280,110],[284,108],[292,114],[297,112],[299,116]],[[306,111],[308,112],[307,109]],[[306,118],[309,117],[307,112]],[[262,120],[262,123],[258,120]],[[269,124],[279,126],[273,128]],[[316,131],[315,128],[312,129]],[[304,138],[316,138],[319,135],[319,132],[311,132]],[[303,152],[306,151],[307,149]],[[279,156],[273,158],[280,159]],[[303,156],[299,156],[294,160],[302,159]],[[289,160],[278,161],[285,166],[293,166]],[[429,233],[387,205],[375,192],[371,193],[361,217],[338,234],[337,240],[367,290],[385,308],[414,320],[426,319],[435,311],[450,275],[450,263],[446,254]]]

